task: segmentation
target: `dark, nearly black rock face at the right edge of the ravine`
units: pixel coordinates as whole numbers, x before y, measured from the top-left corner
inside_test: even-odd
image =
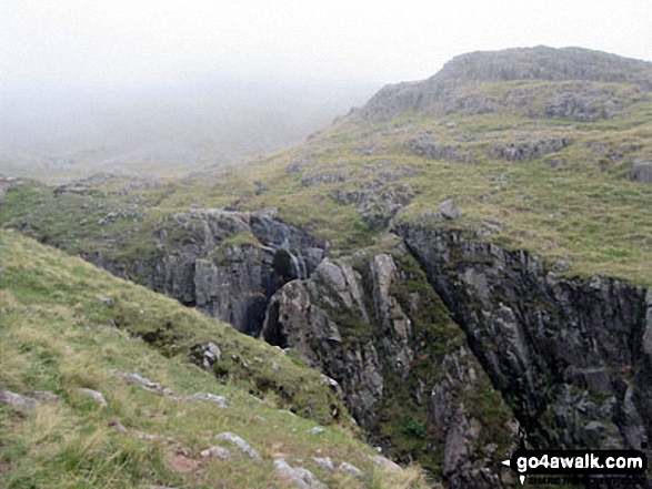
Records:
[[[650,293],[611,278],[560,278],[535,256],[461,232],[395,231],[533,445],[648,442]]]

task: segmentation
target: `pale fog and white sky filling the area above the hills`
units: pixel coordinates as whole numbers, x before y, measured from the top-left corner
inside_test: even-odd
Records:
[[[651,60],[648,1],[2,0],[0,172],[193,169],[293,144],[457,54]]]

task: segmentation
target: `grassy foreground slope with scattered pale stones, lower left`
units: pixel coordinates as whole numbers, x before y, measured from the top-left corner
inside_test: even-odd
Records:
[[[101,296],[113,298],[114,306],[104,306]],[[156,330],[158,348],[140,338]],[[223,384],[188,360],[189,348],[205,340],[225,354],[219,364],[228,370]],[[127,385],[110,375],[111,368],[137,371],[178,396],[227,396],[232,406],[174,403]],[[262,342],[18,233],[0,232],[0,388],[48,390],[63,398],[34,409],[0,405],[1,487],[292,487],[272,470],[279,457],[293,466],[303,459],[303,467],[330,487],[420,487],[413,470],[391,475],[375,468],[365,457],[372,450],[353,439],[345,416],[342,426],[315,436],[307,434],[314,420],[278,410],[293,408],[328,421],[333,399],[320,383],[319,374]],[[103,393],[108,406],[78,394],[79,387]],[[130,430],[172,437],[188,455],[122,435],[109,427],[114,420]],[[218,445],[214,435],[222,431],[240,435],[262,460],[199,457]],[[324,471],[311,457],[349,461],[367,476]]]

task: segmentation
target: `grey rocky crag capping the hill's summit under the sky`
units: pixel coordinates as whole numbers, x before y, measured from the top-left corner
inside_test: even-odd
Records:
[[[593,121],[613,116],[632,98],[645,96],[643,94],[652,90],[651,74],[651,63],[578,48],[472,52],[454,58],[428,80],[384,86],[358,114],[370,122],[382,122],[411,110],[470,115],[518,108],[530,115]],[[535,92],[514,89],[502,94],[464,90],[470,83],[511,80],[581,83],[573,84],[571,91],[550,85],[543,90],[538,88]],[[604,82],[634,86],[630,94],[623,95],[600,85]],[[539,99],[536,92],[544,95],[542,112],[532,103],[534,98]]]

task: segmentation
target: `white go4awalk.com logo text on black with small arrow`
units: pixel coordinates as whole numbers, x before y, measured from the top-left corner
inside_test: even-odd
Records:
[[[602,476],[642,478],[645,454],[638,450],[524,450],[502,463],[516,472],[522,485],[530,476]]]

